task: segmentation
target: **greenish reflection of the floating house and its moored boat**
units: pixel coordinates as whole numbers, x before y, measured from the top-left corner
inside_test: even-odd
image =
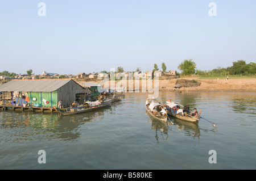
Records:
[[[81,137],[81,125],[100,121],[112,108],[73,116],[59,113],[2,111],[0,113],[1,141],[62,140],[72,141]],[[85,128],[82,128],[86,130]]]

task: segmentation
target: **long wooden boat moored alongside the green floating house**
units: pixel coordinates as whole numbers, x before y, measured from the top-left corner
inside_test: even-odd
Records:
[[[69,107],[69,108],[57,108],[53,107],[57,112],[60,112],[63,115],[74,115],[76,113],[84,113],[100,110],[112,105],[112,100],[107,100],[105,102],[86,102],[81,106]]]

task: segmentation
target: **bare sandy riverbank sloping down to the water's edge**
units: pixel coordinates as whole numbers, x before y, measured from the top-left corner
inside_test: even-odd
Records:
[[[256,78],[199,79],[196,77],[159,80],[159,90],[173,90],[177,80],[181,79],[196,82],[199,86],[183,86],[179,89],[180,91],[256,91]],[[129,81],[115,81],[115,85],[119,87],[127,87],[128,91],[137,89],[142,90],[146,83],[142,83],[142,81],[133,81],[133,85],[129,87]],[[152,81],[152,86],[150,85],[149,87],[154,88],[154,80]]]

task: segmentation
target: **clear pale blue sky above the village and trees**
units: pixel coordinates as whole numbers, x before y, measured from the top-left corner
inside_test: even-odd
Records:
[[[255,0],[0,1],[0,72],[147,71],[163,62],[179,71],[185,59],[203,71],[249,64],[255,8]]]

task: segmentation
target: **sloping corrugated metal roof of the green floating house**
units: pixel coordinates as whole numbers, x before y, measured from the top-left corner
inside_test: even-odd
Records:
[[[0,91],[52,92],[72,79],[13,80],[0,86]],[[74,81],[75,82],[75,81]]]

